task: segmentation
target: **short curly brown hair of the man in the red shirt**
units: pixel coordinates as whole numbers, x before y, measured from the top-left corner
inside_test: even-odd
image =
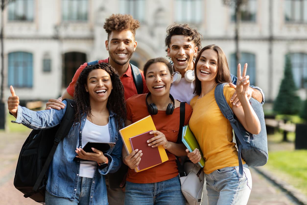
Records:
[[[133,37],[135,37],[135,31],[140,27],[140,22],[130,14],[112,14],[109,18],[106,18],[106,22],[103,28],[108,34],[108,41],[112,31],[122,31],[128,29],[132,32]],[[135,39],[134,39],[135,40]]]

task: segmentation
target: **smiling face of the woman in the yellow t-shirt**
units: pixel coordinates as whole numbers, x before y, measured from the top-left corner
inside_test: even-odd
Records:
[[[216,82],[218,70],[218,53],[212,49],[205,49],[200,53],[196,65],[196,75],[201,82]]]

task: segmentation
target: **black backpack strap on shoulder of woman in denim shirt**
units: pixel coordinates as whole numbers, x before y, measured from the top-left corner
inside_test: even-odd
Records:
[[[55,135],[55,139],[54,139],[54,144],[51,148],[51,151],[49,152],[49,155],[46,159],[46,162],[41,170],[41,173],[39,174],[34,186],[33,186],[33,190],[34,191],[38,191],[40,189],[40,184],[41,181],[44,178],[44,175],[46,173],[46,171],[49,168],[49,164],[53,158],[54,153],[56,152],[56,148],[58,146],[58,144],[60,143],[61,140],[64,139],[65,136],[68,135],[68,132],[70,130],[70,128],[72,127],[73,124],[73,119],[75,117],[75,108],[74,108],[74,101],[71,99],[67,99],[65,98],[64,100],[67,101],[67,105],[66,105],[66,111],[65,114],[61,120],[60,123],[60,127],[59,129],[56,131],[56,135]],[[30,194],[30,193],[29,193]]]

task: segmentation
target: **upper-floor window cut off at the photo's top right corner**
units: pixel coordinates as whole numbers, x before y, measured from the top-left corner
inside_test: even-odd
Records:
[[[285,21],[307,23],[307,0],[285,0]]]

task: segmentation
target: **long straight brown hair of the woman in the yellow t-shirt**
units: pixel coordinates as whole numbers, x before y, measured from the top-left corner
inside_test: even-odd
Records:
[[[201,54],[203,53],[204,50],[206,49],[212,49],[217,52],[217,73],[216,73],[216,83],[230,83],[230,71],[227,63],[227,58],[224,53],[224,51],[220,48],[220,46],[217,46],[215,44],[212,45],[207,45],[203,49],[200,50],[198,55],[196,56],[195,59],[195,64],[194,64],[194,73],[195,73],[195,81],[194,81],[194,94],[200,95],[201,93],[201,82],[197,78],[197,72],[196,72],[196,65],[197,62],[200,59]]]

